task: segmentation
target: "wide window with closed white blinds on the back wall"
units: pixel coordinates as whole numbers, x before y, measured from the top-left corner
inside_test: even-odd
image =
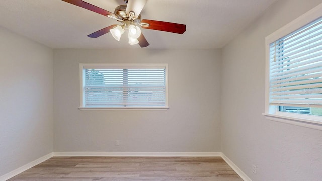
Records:
[[[167,64],[80,64],[81,109],[167,108]]]

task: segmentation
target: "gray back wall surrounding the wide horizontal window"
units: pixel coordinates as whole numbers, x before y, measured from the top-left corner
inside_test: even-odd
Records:
[[[220,50],[54,50],[54,150],[220,151],[220,62]],[[79,63],[168,63],[170,109],[79,110]]]

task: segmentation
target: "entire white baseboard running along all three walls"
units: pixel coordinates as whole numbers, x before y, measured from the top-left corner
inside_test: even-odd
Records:
[[[244,181],[252,181],[238,166],[236,166],[228,157],[221,152],[53,152],[38,158],[20,168],[15,169],[3,176],[0,176],[0,181],[6,181],[27,169],[36,166],[39,163],[46,161],[53,156],[133,156],[133,157],[222,157],[227,164],[243,179]]]

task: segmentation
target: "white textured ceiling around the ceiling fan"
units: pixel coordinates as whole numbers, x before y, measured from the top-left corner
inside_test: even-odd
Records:
[[[86,0],[114,12],[124,0]],[[186,24],[181,34],[142,29],[147,48],[222,48],[276,0],[149,0],[142,19]],[[61,0],[1,0],[0,26],[51,48],[139,48],[110,33],[89,38],[116,20]]]

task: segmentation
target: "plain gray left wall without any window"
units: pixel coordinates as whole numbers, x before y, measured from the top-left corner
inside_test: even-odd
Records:
[[[0,27],[0,176],[53,151],[53,52]]]

